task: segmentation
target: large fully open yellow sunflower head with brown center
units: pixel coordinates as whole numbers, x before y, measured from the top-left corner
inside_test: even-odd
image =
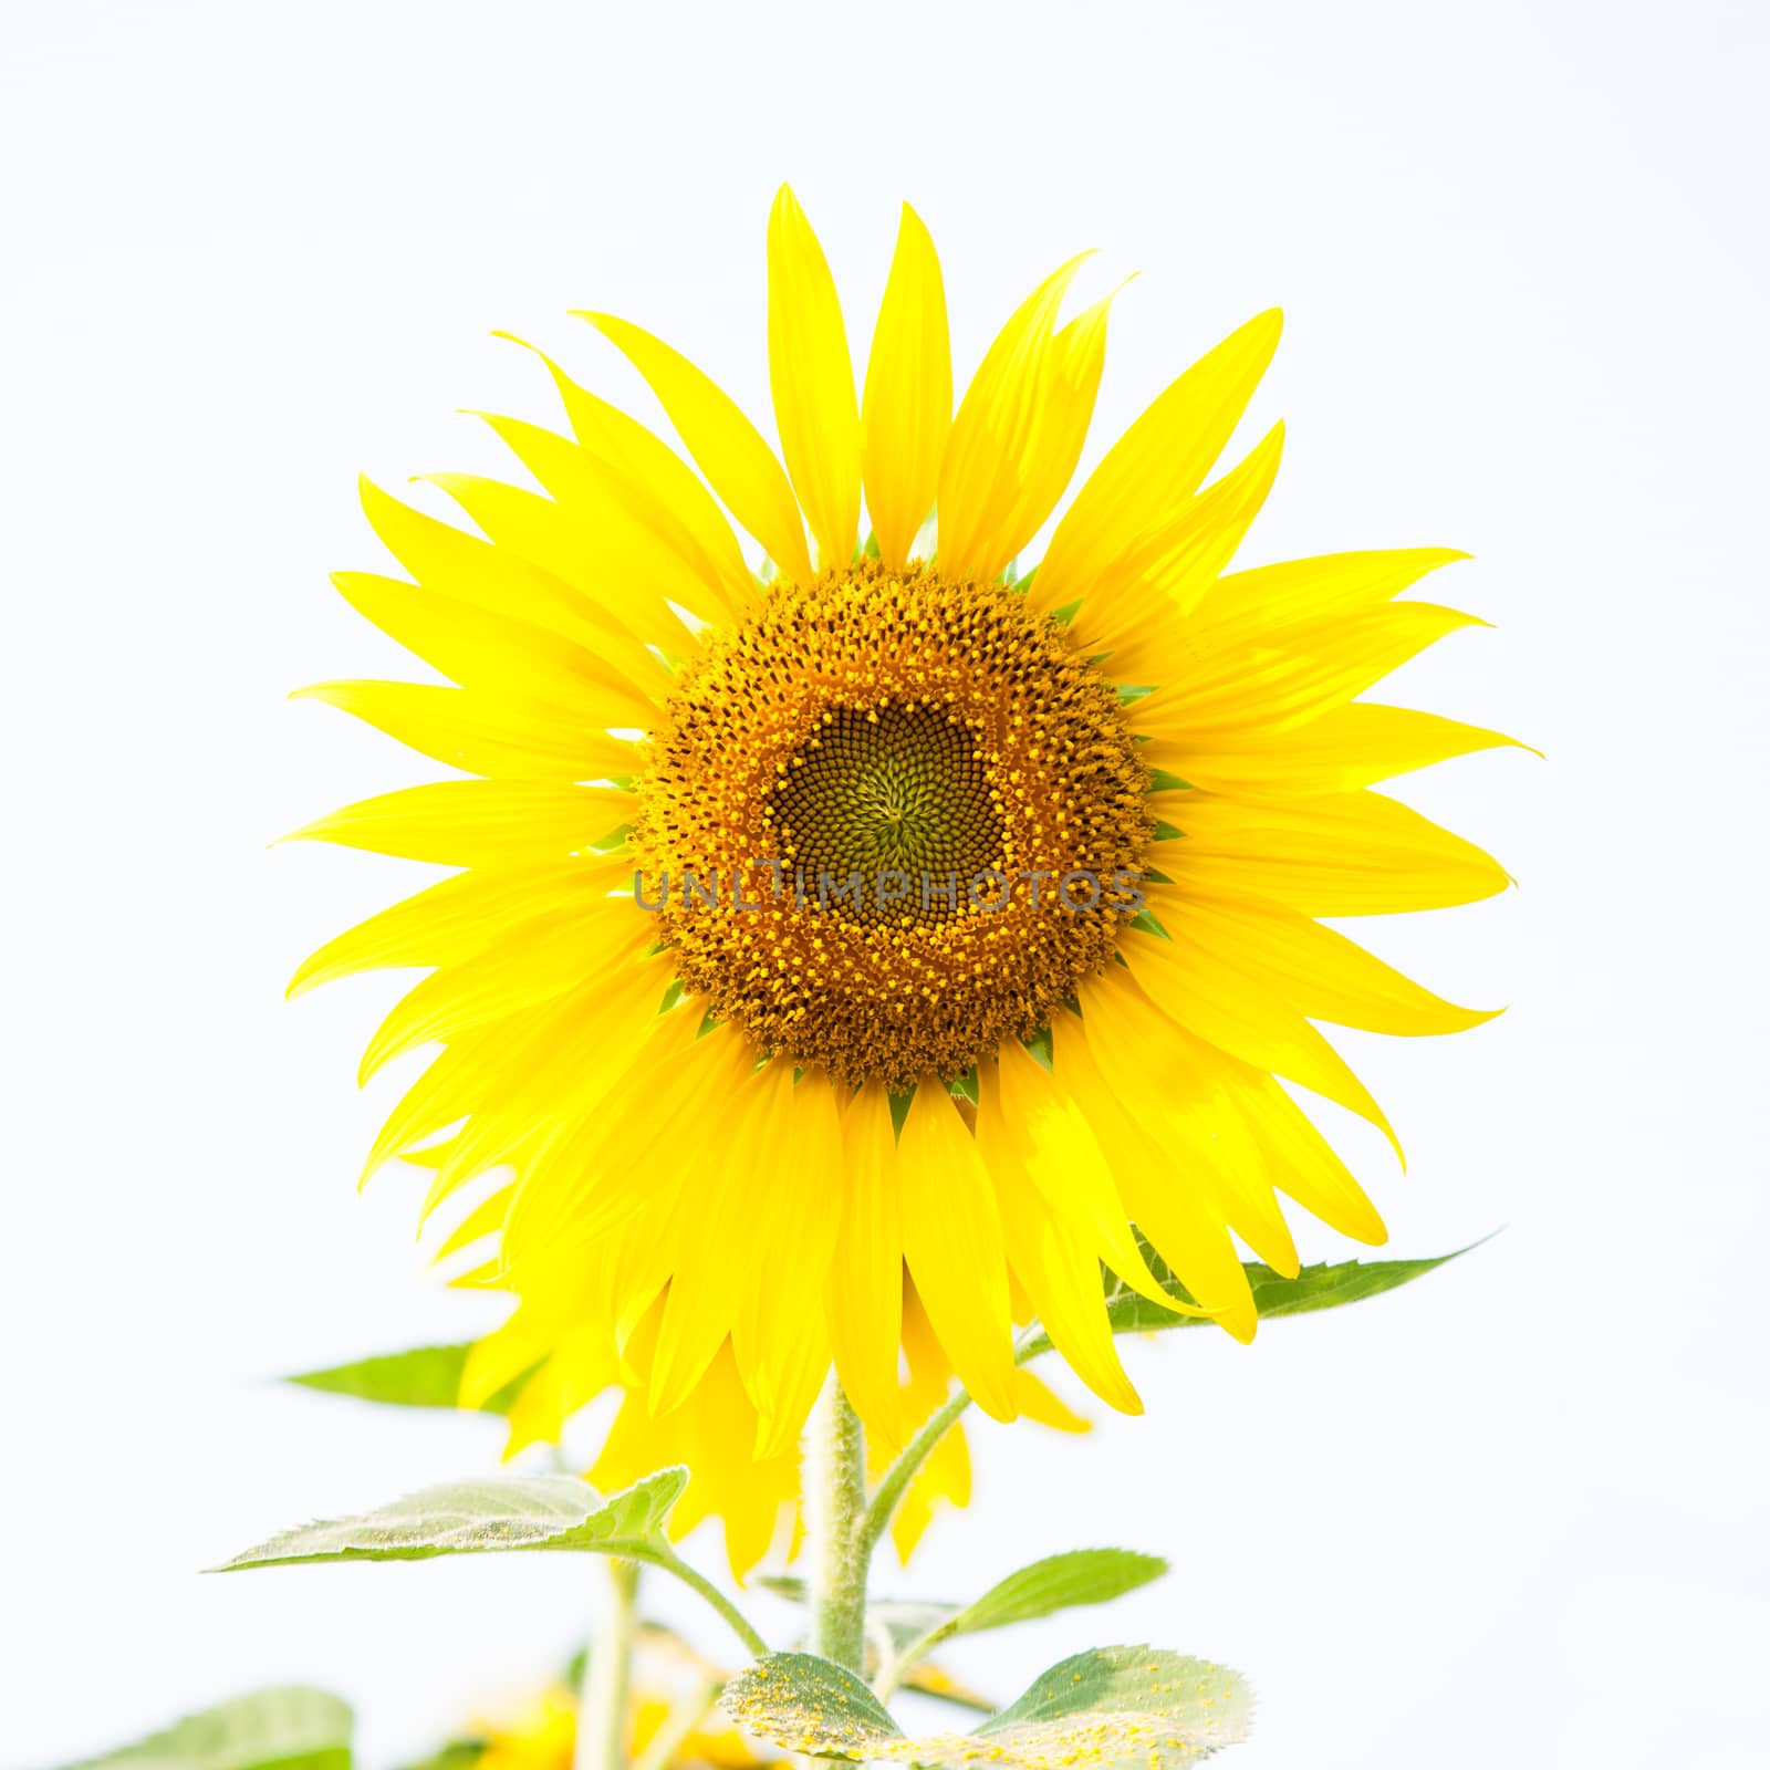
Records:
[[[1165,1297],[1131,1225],[1251,1338],[1237,1239],[1296,1269],[1280,1195],[1384,1239],[1285,1087],[1395,1142],[1317,1023],[1489,1018],[1324,920],[1501,890],[1374,788],[1508,740],[1363,699],[1473,623],[1397,600],[1460,554],[1230,570],[1281,430],[1207,476],[1276,312],[1147,407],[1021,568],[1104,363],[1112,299],[1062,317],[1081,262],[954,412],[940,266],[904,209],[857,398],[782,189],[781,455],[687,358],[584,315],[689,460],[542,358],[570,434],[487,419],[538,490],[434,476],[469,533],[363,487],[407,577],[338,588],[444,680],[306,690],[466,775],[297,832],[453,869],[296,977],[428,972],[365,1055],[366,1076],[441,1046],[368,1170],[444,1147],[427,1214],[513,1174],[473,1214],[485,1281],[584,1343],[643,1340],[657,1418],[735,1379],[761,1458],[832,1363],[876,1443],[903,1441],[904,1273],[995,1418],[1023,1407],[1032,1317],[1136,1411],[1101,1285]]]

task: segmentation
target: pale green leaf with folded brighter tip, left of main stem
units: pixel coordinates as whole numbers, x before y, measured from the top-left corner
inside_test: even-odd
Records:
[[[451,1481],[354,1519],[322,1519],[283,1531],[216,1572],[301,1561],[427,1561],[439,1554],[522,1549],[646,1559],[667,1552],[664,1522],[687,1485],[687,1469],[660,1469],[609,1499],[573,1474]]]

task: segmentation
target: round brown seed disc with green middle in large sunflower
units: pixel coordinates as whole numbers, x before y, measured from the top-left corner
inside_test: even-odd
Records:
[[[632,848],[685,989],[841,1081],[954,1078],[1112,959],[1152,835],[1110,683],[1000,584],[775,581],[683,669]]]

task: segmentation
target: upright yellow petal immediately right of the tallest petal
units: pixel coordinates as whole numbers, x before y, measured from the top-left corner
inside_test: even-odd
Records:
[[[952,347],[940,258],[908,204],[867,356],[862,427],[867,512],[880,558],[897,568],[933,508],[952,430]]]

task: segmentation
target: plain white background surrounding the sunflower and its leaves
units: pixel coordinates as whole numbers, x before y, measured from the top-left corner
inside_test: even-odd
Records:
[[[1096,453],[1283,303],[1248,558],[1471,549],[1443,593],[1497,632],[1400,692],[1547,752],[1409,788],[1520,889],[1377,931],[1512,1012],[1347,1041],[1409,1147],[1347,1143],[1395,1246],[1504,1234],[1253,1351],[1138,1347],[1145,1420],[979,1430],[984,1504],[887,1584],[1170,1554],[954,1660],[1007,1696],[1101,1637],[1216,1655],[1246,1770],[1761,1761],[1761,9],[60,0],[4,58],[7,1761],[306,1678],[382,1770],[581,1627],[554,1558],[195,1572],[499,1441],[267,1384],[490,1320],[411,1175],[354,1193],[389,984],[281,1004],[416,869],[266,848],[435,770],[283,694],[398,673],[326,584],[381,568],[356,471],[492,466],[455,407],[550,421],[492,327],[628,396],[566,317],[607,306],[766,411],[784,177],[857,342],[920,207],[961,372],[1078,246],[1090,292],[1142,269]]]

